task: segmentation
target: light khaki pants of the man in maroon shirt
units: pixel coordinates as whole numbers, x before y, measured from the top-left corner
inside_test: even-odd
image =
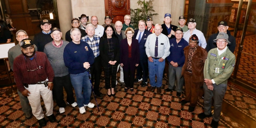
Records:
[[[26,88],[26,87],[25,87]],[[40,95],[43,98],[43,102],[46,109],[46,116],[53,114],[53,93],[44,84],[28,85],[26,88],[31,94],[28,96],[29,103],[32,108],[32,113],[37,120],[44,118],[43,109],[41,107]]]

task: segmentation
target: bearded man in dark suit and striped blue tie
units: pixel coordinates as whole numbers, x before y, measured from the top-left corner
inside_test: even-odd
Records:
[[[146,54],[146,47],[145,43],[147,41],[147,38],[152,32],[146,30],[146,21],[140,20],[138,23],[139,29],[134,30],[134,38],[139,41],[139,66],[137,67],[137,74],[134,82],[142,81],[141,86],[145,87],[147,85],[148,81],[148,56]],[[142,77],[143,72],[143,77]]]

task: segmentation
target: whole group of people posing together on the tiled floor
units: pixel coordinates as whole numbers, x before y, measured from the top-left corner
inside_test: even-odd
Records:
[[[235,64],[235,38],[227,30],[227,22],[220,21],[219,32],[213,34],[206,43],[203,33],[195,28],[195,19],[189,19],[186,26],[184,16],[180,16],[180,26],[177,27],[170,24],[169,13],[164,15],[162,25],[153,25],[152,17],[138,21],[137,30],[130,24],[130,15],[124,16],[124,24],[121,21],[111,23],[108,15],[103,25],[98,25],[96,16],[91,17],[91,23],[87,23],[88,20],[85,14],[79,19],[73,18],[73,28],[65,34],[66,41],[61,39],[59,28],[51,30],[47,19],[40,22],[42,32],[36,34],[33,41],[24,30],[16,33],[19,44],[8,51],[8,58],[27,119],[31,118],[32,110],[39,125],[46,125],[41,95],[46,108],[45,115],[50,122],[54,122],[53,95],[59,112],[65,112],[63,87],[67,92],[67,103],[78,106],[81,114],[86,112],[85,107],[93,108],[88,69],[91,82],[95,81],[94,93],[97,97],[103,96],[99,91],[102,67],[109,97],[116,94],[119,68],[119,83],[125,86],[125,92],[134,91],[134,82],[141,81],[141,87],[148,86],[149,77],[147,91],[156,89],[161,94],[165,61],[168,61],[169,84],[165,91],[175,90],[180,97],[185,81],[186,97],[180,102],[190,102],[189,111],[192,112],[197,105],[200,87],[203,86],[204,113],[199,114],[198,118],[213,116],[211,126],[218,127],[227,79]],[[214,115],[211,115],[212,98]]]

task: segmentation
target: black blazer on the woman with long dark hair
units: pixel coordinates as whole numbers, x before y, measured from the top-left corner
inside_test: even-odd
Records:
[[[115,66],[118,66],[119,58],[120,58],[119,40],[116,37],[112,37],[112,41],[114,43],[113,47],[114,47],[114,56],[115,56],[115,59],[113,61],[117,61]],[[107,67],[108,62],[110,61],[110,59],[108,58],[108,55],[107,55],[107,51],[108,51],[107,43],[108,43],[107,38],[100,37],[99,49],[100,49],[100,56],[101,56],[101,65],[103,67]]]

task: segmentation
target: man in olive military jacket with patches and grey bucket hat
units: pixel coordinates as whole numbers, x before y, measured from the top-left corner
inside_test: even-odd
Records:
[[[217,48],[208,52],[204,64],[204,112],[197,117],[200,119],[213,117],[211,127],[217,128],[222,100],[227,90],[227,79],[231,76],[235,67],[235,55],[227,48],[230,42],[225,32],[220,32],[214,42],[216,42]],[[213,115],[211,112],[212,98],[214,99]]]

